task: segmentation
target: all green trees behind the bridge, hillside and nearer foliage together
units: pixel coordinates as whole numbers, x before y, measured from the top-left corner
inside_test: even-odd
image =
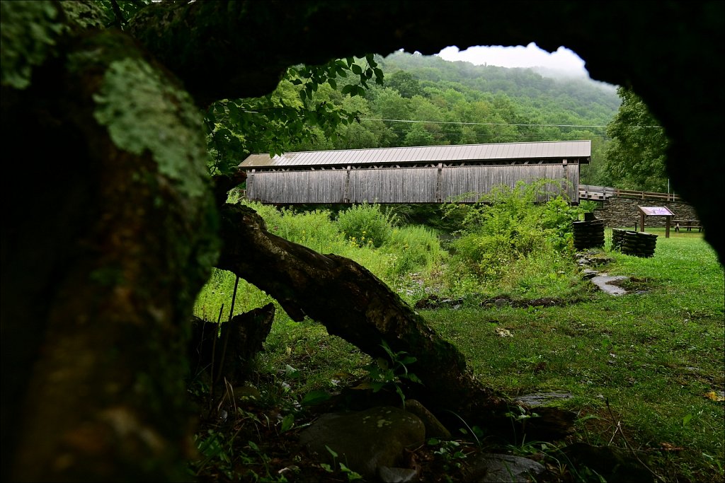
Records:
[[[320,83],[298,66],[264,98],[217,104],[210,130],[215,167],[233,169],[235,161],[266,151],[588,139],[592,162],[581,167],[582,184],[668,189],[663,130],[624,88],[402,51],[336,62],[353,72],[374,66],[377,82],[360,88],[339,68]],[[311,80],[312,88],[305,85]],[[303,125],[301,117],[312,122]],[[253,125],[264,129],[250,138]]]

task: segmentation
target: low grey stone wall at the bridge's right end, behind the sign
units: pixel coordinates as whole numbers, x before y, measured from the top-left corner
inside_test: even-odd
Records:
[[[682,201],[643,200],[641,198],[610,198],[600,203],[595,209],[595,217],[603,219],[610,228],[634,228],[639,226],[639,210],[637,206],[665,206],[672,211],[673,219],[700,219],[695,209]],[[645,227],[664,227],[666,217],[645,217]]]

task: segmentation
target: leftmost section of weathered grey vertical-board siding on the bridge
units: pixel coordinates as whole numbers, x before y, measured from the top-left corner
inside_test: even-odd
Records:
[[[342,203],[344,170],[255,172],[247,198],[262,203]]]

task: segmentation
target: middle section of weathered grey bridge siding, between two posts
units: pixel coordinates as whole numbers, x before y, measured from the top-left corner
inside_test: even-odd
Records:
[[[354,169],[350,172],[351,203],[434,203],[435,168]]]

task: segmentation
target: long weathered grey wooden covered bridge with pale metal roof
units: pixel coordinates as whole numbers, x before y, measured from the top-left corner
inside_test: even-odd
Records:
[[[247,198],[262,203],[473,203],[494,185],[552,180],[579,202],[589,140],[252,154]]]

